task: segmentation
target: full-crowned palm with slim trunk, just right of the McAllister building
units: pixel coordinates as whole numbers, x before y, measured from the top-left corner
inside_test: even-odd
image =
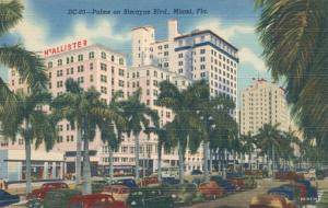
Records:
[[[138,89],[132,96],[126,101],[121,101],[121,106],[124,109],[124,117],[127,119],[127,134],[128,136],[133,135],[136,142],[136,181],[139,182],[139,152],[140,152],[140,141],[139,136],[142,129],[145,129],[153,123],[157,126],[159,115],[156,111],[151,109],[144,103],[141,103],[141,89]]]

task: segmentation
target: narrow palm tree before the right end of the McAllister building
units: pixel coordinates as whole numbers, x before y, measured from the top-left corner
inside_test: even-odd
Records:
[[[121,142],[121,134],[126,129],[126,122],[122,117],[122,108],[120,106],[120,103],[118,102],[118,97],[120,95],[120,91],[116,92],[110,103],[107,105],[107,108],[105,107],[103,112],[98,115],[99,117],[104,115],[104,111],[112,112],[112,114],[115,114],[115,116],[110,116],[110,119],[108,119],[108,116],[105,116],[99,124],[101,132],[102,132],[102,140],[104,143],[107,143],[108,147],[108,153],[109,153],[109,178],[110,181],[114,178],[114,164],[113,164],[113,152],[114,150],[117,150],[119,147],[119,143]],[[106,115],[106,114],[105,114]]]

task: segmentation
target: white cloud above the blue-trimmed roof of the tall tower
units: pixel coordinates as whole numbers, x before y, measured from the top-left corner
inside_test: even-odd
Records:
[[[230,38],[235,35],[255,34],[255,27],[253,25],[233,25],[224,27],[222,21],[216,18],[200,21],[195,27],[199,30],[211,30],[226,41],[230,41]]]

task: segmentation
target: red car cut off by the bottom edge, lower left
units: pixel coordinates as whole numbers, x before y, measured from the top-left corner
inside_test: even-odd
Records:
[[[67,208],[128,208],[122,201],[106,194],[93,194],[71,198]]]

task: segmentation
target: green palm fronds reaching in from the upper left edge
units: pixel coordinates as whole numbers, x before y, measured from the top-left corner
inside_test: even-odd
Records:
[[[19,0],[0,2],[0,36],[14,27],[23,18],[24,7]],[[17,70],[21,78],[27,82],[31,89],[46,88],[47,76],[44,60],[35,53],[27,51],[21,44],[13,46],[0,46],[0,63]],[[12,109],[15,95],[0,78],[0,104]]]

